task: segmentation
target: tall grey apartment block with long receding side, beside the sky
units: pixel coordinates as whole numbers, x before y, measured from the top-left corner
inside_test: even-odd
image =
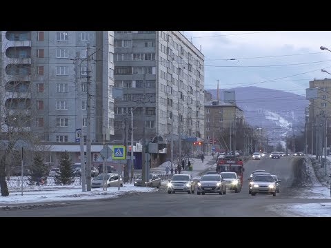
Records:
[[[143,122],[149,140],[171,132],[203,139],[203,61],[181,32],[115,31],[114,79],[123,99],[115,99],[114,139],[123,140],[123,118],[132,107],[134,141],[143,137]]]

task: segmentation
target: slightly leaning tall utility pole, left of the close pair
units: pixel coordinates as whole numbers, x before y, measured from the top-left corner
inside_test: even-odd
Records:
[[[84,155],[84,136],[83,136],[83,90],[81,87],[81,81],[79,81],[79,52],[76,52],[76,59],[74,61],[74,72],[75,72],[75,86],[77,92],[77,111],[78,111],[78,123],[81,128],[79,134],[79,147],[81,150],[81,191],[86,192],[86,174],[85,174],[85,155]]]

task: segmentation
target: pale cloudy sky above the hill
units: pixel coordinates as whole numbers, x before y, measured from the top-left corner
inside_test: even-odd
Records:
[[[206,90],[216,89],[218,79],[221,89],[257,86],[305,95],[310,80],[331,78],[321,72],[331,73],[331,52],[320,49],[331,50],[330,31],[182,32],[201,45]]]

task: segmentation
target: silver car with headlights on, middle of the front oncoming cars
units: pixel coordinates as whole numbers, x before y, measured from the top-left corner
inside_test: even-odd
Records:
[[[197,194],[218,193],[226,194],[226,183],[220,174],[204,175],[197,183]]]

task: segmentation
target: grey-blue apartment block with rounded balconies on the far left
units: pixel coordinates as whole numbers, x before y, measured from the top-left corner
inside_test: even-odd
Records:
[[[1,115],[10,115],[5,116],[10,121],[2,128],[19,121],[26,130],[38,134],[40,141],[52,144],[52,151],[76,152],[77,161],[77,129],[83,125],[86,134],[88,44],[92,54],[91,141],[102,142],[105,133],[106,140],[110,140],[114,134],[113,31],[1,32]],[[25,110],[28,121],[15,116],[18,110]],[[100,147],[97,151],[92,147],[92,152],[99,151]]]

